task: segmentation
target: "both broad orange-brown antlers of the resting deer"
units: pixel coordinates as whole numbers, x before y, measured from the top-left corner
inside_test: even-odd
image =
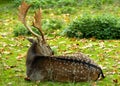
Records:
[[[27,3],[25,2],[22,2],[22,4],[19,6],[19,19],[20,21],[24,24],[24,26],[37,38],[39,38],[40,36],[38,34],[36,34],[35,32],[33,32],[33,30],[30,28],[30,26],[27,25],[26,23],[26,14],[28,12],[28,9],[30,8],[30,5],[28,5]],[[35,13],[35,21],[33,23],[33,26],[35,28],[37,28],[41,35],[42,35],[42,39],[45,41],[44,39],[44,35],[42,33],[42,30],[41,30],[41,11],[38,11]]]

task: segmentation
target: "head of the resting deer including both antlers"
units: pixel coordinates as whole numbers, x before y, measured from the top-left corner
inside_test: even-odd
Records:
[[[26,15],[31,5],[28,5],[25,2],[22,2],[22,4],[19,6],[19,19],[24,24],[24,26],[32,33],[33,36],[36,37],[36,39],[28,39],[32,45],[35,45],[35,52],[37,52],[39,55],[44,56],[50,56],[53,54],[52,49],[47,44],[44,34],[42,32],[41,28],[41,14],[42,11],[39,9],[35,12],[34,21],[33,21],[33,27],[38,29],[41,35],[35,33],[31,27],[26,22]]]

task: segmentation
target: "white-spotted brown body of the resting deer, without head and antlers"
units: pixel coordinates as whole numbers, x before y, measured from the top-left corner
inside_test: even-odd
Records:
[[[37,48],[33,45],[28,51],[26,61],[27,76],[32,81],[95,81],[100,75],[104,78],[101,68],[82,53],[71,56],[41,56],[34,52],[34,55],[29,55],[31,49],[34,51]],[[31,58],[33,59],[30,60]]]

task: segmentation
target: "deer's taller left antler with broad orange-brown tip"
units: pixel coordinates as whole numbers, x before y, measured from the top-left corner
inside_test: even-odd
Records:
[[[22,4],[19,6],[19,19],[20,21],[24,24],[24,26],[35,36],[35,37],[39,37],[38,34],[36,34],[35,32],[33,32],[33,30],[27,25],[26,23],[26,15],[28,12],[28,9],[30,8],[31,5],[28,5],[27,3],[25,3],[24,1],[22,2]]]

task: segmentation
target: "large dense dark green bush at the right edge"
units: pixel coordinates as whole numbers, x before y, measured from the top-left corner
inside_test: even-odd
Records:
[[[120,19],[109,14],[84,15],[75,19],[65,30],[68,37],[120,39]]]

